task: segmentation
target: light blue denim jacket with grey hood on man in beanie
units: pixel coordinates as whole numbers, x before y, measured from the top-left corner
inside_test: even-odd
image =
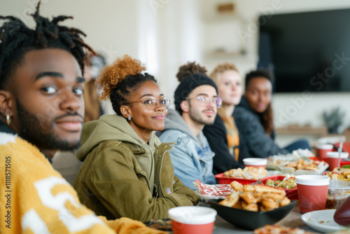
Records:
[[[162,142],[174,142],[169,151],[175,175],[186,186],[196,190],[193,181],[199,179],[204,184],[215,184],[213,157],[207,138],[203,132],[195,137],[183,118],[174,110],[168,110],[165,130],[157,133]]]

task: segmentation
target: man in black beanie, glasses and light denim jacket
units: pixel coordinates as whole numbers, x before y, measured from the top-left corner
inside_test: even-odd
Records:
[[[183,184],[196,190],[193,181],[215,184],[213,157],[202,129],[214,123],[221,106],[218,88],[204,74],[183,79],[175,90],[175,109],[168,110],[165,129],[159,133],[162,142],[174,142],[169,151],[175,175]]]

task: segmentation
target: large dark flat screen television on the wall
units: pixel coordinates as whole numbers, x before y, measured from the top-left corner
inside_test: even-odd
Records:
[[[259,29],[274,92],[350,91],[350,9],[260,15]]]

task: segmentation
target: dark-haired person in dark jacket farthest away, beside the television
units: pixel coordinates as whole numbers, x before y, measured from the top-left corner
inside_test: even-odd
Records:
[[[295,149],[311,149],[305,140],[294,142],[284,149],[274,142],[272,75],[269,71],[257,70],[246,74],[245,87],[244,96],[233,112],[239,130],[240,160],[267,158]]]

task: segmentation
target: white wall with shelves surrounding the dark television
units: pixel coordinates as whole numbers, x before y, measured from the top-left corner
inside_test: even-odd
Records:
[[[220,18],[215,16],[215,6],[222,2],[234,2],[236,6],[236,15],[230,18]],[[245,1],[213,1],[206,0],[206,6],[210,6],[207,11],[203,12],[204,21],[204,35],[214,33],[218,40],[227,39],[221,41],[225,45],[229,45],[232,41],[237,42],[237,47],[246,48],[246,55],[221,55],[218,57],[204,56],[204,62],[207,67],[211,69],[218,64],[218,62],[233,62],[237,65],[241,71],[241,75],[251,69],[255,69],[258,61],[258,27],[257,18],[258,15],[263,13],[281,14],[292,13],[301,11],[321,11],[337,8],[350,8],[350,1],[328,1],[328,0],[245,0]],[[240,22],[239,27],[235,27],[233,21]],[[230,23],[231,25],[228,25]],[[213,25],[216,25],[216,29],[213,29]],[[226,25],[226,26],[225,26]],[[221,29],[221,32],[218,32]],[[232,32],[226,33],[225,31],[233,30],[236,35],[232,36]],[[245,37],[239,36],[239,30],[246,32]],[[228,35],[228,37],[225,37]],[[247,36],[248,35],[248,36]],[[206,36],[204,40],[203,48],[210,48],[213,43],[216,43],[215,37]],[[237,41],[240,39],[240,41]],[[211,48],[212,49],[212,48]],[[346,54],[349,57],[350,54]],[[346,64],[345,66],[350,66]],[[346,127],[350,126],[350,93],[311,93],[311,95],[305,95],[302,92],[293,94],[275,94],[273,97],[274,106],[274,122],[276,127],[285,127],[293,123],[299,125],[311,124],[311,126],[317,128],[324,125],[322,113],[323,111],[330,111],[339,106],[346,112]],[[278,140],[278,139],[277,139]]]

